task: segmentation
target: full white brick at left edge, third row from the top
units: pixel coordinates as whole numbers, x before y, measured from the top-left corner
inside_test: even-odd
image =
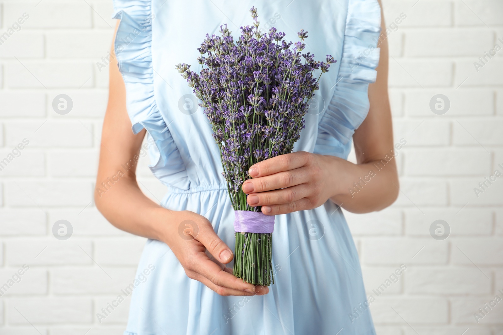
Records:
[[[93,87],[93,65],[85,62],[13,61],[6,65],[10,88],[86,88]]]

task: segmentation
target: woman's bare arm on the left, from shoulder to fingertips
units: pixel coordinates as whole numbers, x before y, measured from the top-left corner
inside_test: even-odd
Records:
[[[113,48],[111,54],[114,60]],[[131,160],[137,161],[144,136],[145,130],[137,135],[131,131],[124,81],[117,63],[112,61],[96,179],[95,202],[98,209],[115,227],[166,243],[190,278],[202,282],[220,295],[267,293],[267,287],[256,288],[245,283],[223,265],[232,260],[232,251],[218,238],[204,216],[187,210],[163,208],[141,192],[136,182],[136,165],[129,170],[122,165]],[[198,230],[184,225],[183,233],[179,233],[180,225],[186,220],[190,220],[191,225],[197,226]],[[208,257],[206,251],[214,260]]]

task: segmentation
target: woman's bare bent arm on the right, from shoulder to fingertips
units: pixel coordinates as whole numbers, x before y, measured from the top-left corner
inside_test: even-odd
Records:
[[[381,29],[386,30],[384,19]],[[396,200],[386,38],[379,47],[377,79],[369,85],[369,113],[353,135],[358,164],[308,152],[270,158],[252,166],[249,174],[254,178],[243,183],[250,205],[261,205],[262,212],[274,215],[316,208],[331,199],[351,212],[365,213]]]

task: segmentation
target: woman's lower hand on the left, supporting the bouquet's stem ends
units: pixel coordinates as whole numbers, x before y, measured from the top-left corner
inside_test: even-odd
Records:
[[[189,210],[170,211],[163,242],[180,261],[187,276],[219,295],[264,295],[268,287],[248,284],[232,274],[225,264],[231,249],[218,237],[206,217]]]

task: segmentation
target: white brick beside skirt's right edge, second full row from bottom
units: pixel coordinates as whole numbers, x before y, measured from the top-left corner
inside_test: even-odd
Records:
[[[395,270],[399,270],[400,275],[396,275]],[[405,271],[398,267],[374,267],[366,266],[362,268],[365,291],[368,294],[396,294],[402,292],[403,274]],[[384,286],[382,286],[384,284]],[[375,292],[374,292],[375,291]],[[376,293],[377,292],[377,293]]]

